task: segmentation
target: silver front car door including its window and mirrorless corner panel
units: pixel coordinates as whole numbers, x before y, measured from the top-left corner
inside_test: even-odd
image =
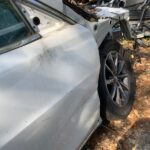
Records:
[[[16,3],[0,1],[0,149],[77,149],[100,123],[97,44],[86,28]]]

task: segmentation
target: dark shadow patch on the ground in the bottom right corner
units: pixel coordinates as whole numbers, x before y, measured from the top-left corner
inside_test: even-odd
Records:
[[[150,118],[138,120],[119,140],[117,150],[150,150]]]

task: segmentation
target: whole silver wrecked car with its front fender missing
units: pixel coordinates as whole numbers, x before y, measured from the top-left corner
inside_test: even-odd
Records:
[[[111,36],[129,12],[93,3],[0,0],[0,150],[80,149],[130,113],[134,74]]]

